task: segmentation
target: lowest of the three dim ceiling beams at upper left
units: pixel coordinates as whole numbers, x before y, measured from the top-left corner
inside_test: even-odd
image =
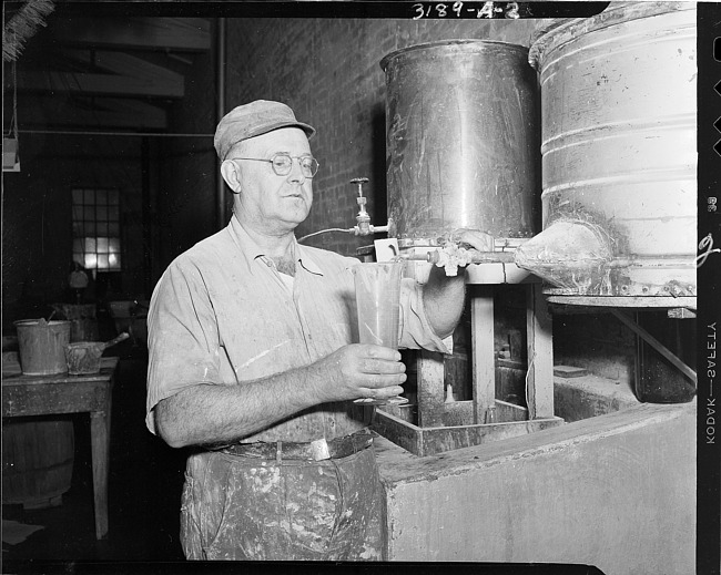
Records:
[[[19,129],[47,127],[122,127],[133,130],[167,130],[167,114],[158,107],[136,100],[103,97],[95,110],[59,99],[23,99],[18,102]]]

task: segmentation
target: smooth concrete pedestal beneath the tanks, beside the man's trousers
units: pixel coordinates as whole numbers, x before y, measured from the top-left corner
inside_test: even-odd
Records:
[[[376,449],[388,561],[694,572],[695,402],[637,404],[426,458],[383,438]]]

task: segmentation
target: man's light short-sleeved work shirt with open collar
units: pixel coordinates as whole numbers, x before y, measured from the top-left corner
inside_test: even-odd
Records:
[[[295,278],[285,279],[235,216],[179,256],[150,304],[145,423],[185,388],[242,386],[313,363],[358,341],[354,278],[359,260],[295,243]],[[425,315],[420,286],[404,279],[399,347],[448,352]],[[367,427],[368,409],[323,403],[244,442],[333,439]]]

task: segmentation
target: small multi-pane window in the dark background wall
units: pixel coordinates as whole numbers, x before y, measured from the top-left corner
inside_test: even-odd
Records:
[[[120,271],[120,192],[72,191],[72,259],[93,271]]]

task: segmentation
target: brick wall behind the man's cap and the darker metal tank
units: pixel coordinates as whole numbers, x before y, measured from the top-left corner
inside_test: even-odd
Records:
[[[355,19],[231,19],[227,109],[256,99],[287,103],[317,130],[311,142],[321,171],[315,201],[298,237],[355,225],[353,177],[365,176],[368,212],[386,223],[384,55],[447,39],[501,40],[528,45],[534,21],[409,21]],[[308,244],[354,255],[369,237],[325,234]]]

